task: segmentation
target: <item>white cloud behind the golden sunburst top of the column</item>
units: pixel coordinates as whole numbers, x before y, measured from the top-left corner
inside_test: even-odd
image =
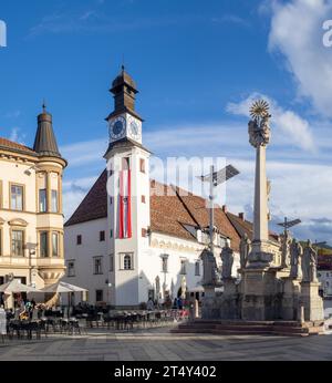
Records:
[[[253,101],[260,99],[269,102],[272,114],[271,124],[280,133],[288,136],[289,145],[295,145],[305,151],[315,151],[317,143],[314,142],[309,122],[295,112],[282,108],[274,100],[264,94],[252,93],[239,103],[229,103],[226,108],[229,113],[249,117],[250,106]]]

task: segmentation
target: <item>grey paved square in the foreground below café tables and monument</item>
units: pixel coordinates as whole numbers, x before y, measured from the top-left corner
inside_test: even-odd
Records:
[[[40,341],[0,342],[0,361],[232,361],[332,360],[332,334],[307,338],[172,334],[169,329],[87,335],[52,335]]]

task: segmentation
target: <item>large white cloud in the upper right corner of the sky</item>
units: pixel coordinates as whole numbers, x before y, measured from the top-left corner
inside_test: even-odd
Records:
[[[292,73],[298,95],[314,111],[332,116],[332,50],[323,45],[323,22],[332,17],[331,0],[272,2],[271,52],[280,52]]]

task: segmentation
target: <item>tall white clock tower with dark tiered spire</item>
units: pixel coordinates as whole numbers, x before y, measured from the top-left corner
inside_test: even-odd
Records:
[[[112,83],[114,111],[108,115],[107,225],[110,301],[117,308],[142,301],[143,259],[148,249],[151,153],[142,145],[143,118],[135,111],[135,81],[122,66]],[[144,301],[146,298],[144,297]]]

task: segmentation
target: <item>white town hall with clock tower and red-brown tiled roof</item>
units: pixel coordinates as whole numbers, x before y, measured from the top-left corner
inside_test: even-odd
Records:
[[[149,178],[151,152],[142,145],[143,120],[135,111],[138,92],[124,68],[111,92],[107,167],[65,224],[65,279],[86,288],[90,303],[116,308],[135,308],[149,297],[173,300],[185,286],[188,294],[198,293],[199,256],[208,242],[206,200]],[[215,226],[217,265],[227,240],[237,277],[240,236],[251,236],[252,226],[226,207],[215,209]]]

